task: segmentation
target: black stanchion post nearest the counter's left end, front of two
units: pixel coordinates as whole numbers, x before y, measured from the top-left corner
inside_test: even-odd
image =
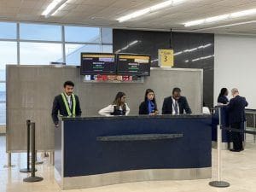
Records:
[[[31,124],[31,137],[32,137],[32,143],[31,143],[31,149],[32,149],[32,172],[31,177],[26,177],[23,179],[24,182],[39,182],[42,181],[43,177],[36,177],[35,176],[35,166],[36,166],[36,127],[35,123],[32,122]]]

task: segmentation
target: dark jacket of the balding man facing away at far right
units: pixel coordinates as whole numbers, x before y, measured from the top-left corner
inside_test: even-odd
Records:
[[[230,123],[240,123],[245,121],[244,108],[247,107],[248,103],[242,96],[236,96],[230,99],[230,103],[227,106]]]

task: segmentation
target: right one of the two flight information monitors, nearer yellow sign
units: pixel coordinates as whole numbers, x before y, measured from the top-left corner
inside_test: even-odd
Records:
[[[117,55],[117,73],[120,75],[150,75],[150,55]]]

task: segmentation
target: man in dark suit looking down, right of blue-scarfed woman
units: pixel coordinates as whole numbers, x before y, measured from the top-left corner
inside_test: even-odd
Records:
[[[172,96],[166,97],[162,107],[162,114],[183,114],[192,113],[185,96],[180,95],[181,90],[174,88]]]

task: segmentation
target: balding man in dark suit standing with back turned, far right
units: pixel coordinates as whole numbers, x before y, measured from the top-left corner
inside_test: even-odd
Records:
[[[245,121],[245,107],[248,103],[246,99],[239,96],[239,92],[236,88],[231,90],[233,98],[227,106],[230,118],[230,127],[233,129],[242,129],[242,124]],[[233,149],[230,151],[239,152],[243,150],[242,147],[242,136],[240,132],[231,131],[231,138],[233,142]]]

